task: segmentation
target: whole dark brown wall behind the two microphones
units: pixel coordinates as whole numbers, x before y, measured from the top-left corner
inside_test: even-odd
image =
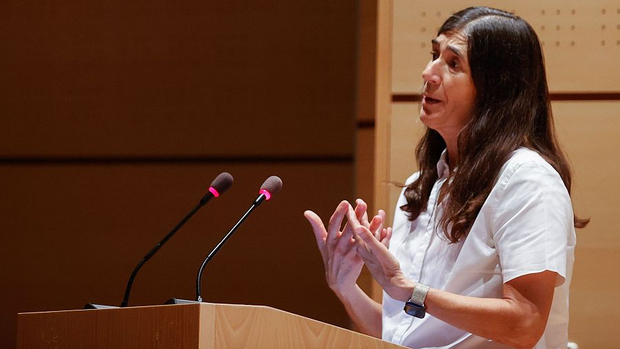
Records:
[[[220,171],[236,184],[143,268],[130,304],[193,299],[200,262],[277,174],[203,298],[347,326],[302,212],[353,199],[356,16],[355,1],[4,2],[0,348],[19,312],[118,305]]]

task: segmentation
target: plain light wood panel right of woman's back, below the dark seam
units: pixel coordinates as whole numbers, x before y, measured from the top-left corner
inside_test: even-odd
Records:
[[[575,174],[575,211],[591,218],[586,229],[577,230],[569,336],[582,348],[613,348],[617,339],[610,334],[620,327],[614,300],[620,282],[611,276],[620,264],[615,210],[620,207],[620,101],[557,102],[553,108]]]

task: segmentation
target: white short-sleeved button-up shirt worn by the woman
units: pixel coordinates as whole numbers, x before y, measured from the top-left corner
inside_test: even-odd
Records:
[[[389,250],[405,277],[459,295],[501,298],[503,284],[511,279],[554,271],[558,276],[551,311],[535,348],[566,348],[575,227],[570,197],[559,174],[535,151],[514,151],[467,237],[448,244],[435,224],[442,214],[437,194],[449,173],[445,154],[437,162],[440,177],[426,211],[411,222],[399,208],[406,204],[402,193],[396,206]],[[507,348],[428,313],[424,319],[412,317],[403,307],[403,302],[383,293],[384,340],[411,348]]]

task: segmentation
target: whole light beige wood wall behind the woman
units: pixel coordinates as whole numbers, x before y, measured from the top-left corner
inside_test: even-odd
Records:
[[[590,217],[577,232],[571,285],[571,341],[581,348],[615,348],[620,307],[614,282],[617,257],[615,208],[620,206],[617,164],[620,138],[620,8],[617,1],[482,1],[516,12],[544,41],[552,108],[561,143],[574,169],[575,211]],[[378,1],[375,43],[375,207],[393,214],[403,182],[415,171],[415,145],[424,131],[415,102],[428,62],[430,41],[446,17],[466,1]],[[367,172],[366,176],[371,176]],[[358,176],[361,176],[358,173]],[[373,285],[380,299],[380,288]]]

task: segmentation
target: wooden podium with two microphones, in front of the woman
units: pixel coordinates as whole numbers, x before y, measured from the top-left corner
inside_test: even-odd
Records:
[[[404,348],[267,306],[177,304],[20,313],[18,348]]]

